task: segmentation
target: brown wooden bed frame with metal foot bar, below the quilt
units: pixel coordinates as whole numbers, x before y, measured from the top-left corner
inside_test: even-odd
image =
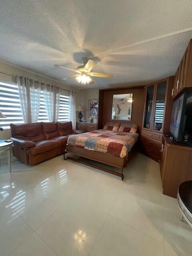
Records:
[[[70,160],[73,160],[73,161],[76,161],[76,162],[79,162],[79,163],[82,163],[82,164],[86,164],[86,165],[91,166],[93,168],[96,168],[96,169],[102,170],[104,172],[108,172],[108,173],[114,174],[116,176],[119,176],[123,180],[124,179],[123,168],[125,168],[127,166],[128,162],[134,156],[134,154],[136,152],[137,144],[138,144],[138,142],[136,142],[136,144],[132,147],[131,151],[128,153],[128,156],[127,157],[125,156],[124,158],[120,158],[120,157],[117,157],[117,156],[112,156],[112,155],[109,155],[109,154],[104,154],[104,153],[88,150],[88,149],[85,149],[85,148],[78,148],[76,146],[70,146],[70,145],[67,144],[66,145],[66,150],[64,151],[64,160],[70,159]],[[77,156],[88,158],[90,160],[101,162],[103,164],[108,164],[110,166],[121,168],[121,173],[109,170],[107,168],[97,166],[96,164],[90,164],[88,162],[73,158],[71,156],[65,157],[65,155],[67,153],[71,153],[71,154],[74,154],[74,155],[77,155]]]

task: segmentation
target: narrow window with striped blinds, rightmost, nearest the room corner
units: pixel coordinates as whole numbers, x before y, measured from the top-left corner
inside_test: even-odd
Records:
[[[60,89],[60,105],[58,122],[69,121],[69,96],[65,90]]]

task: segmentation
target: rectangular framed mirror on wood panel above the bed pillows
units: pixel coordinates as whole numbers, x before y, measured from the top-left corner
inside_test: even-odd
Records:
[[[133,94],[114,94],[112,120],[131,120]]]

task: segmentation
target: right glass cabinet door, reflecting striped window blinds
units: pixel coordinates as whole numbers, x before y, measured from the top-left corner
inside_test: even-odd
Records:
[[[155,131],[162,131],[164,121],[166,86],[167,81],[162,81],[157,84],[153,118],[153,130]]]

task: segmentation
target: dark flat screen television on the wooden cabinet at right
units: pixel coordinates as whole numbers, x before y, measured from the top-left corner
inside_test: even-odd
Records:
[[[184,140],[185,129],[185,108],[186,108],[186,93],[184,92],[173,102],[173,110],[170,122],[170,133],[178,142]]]

